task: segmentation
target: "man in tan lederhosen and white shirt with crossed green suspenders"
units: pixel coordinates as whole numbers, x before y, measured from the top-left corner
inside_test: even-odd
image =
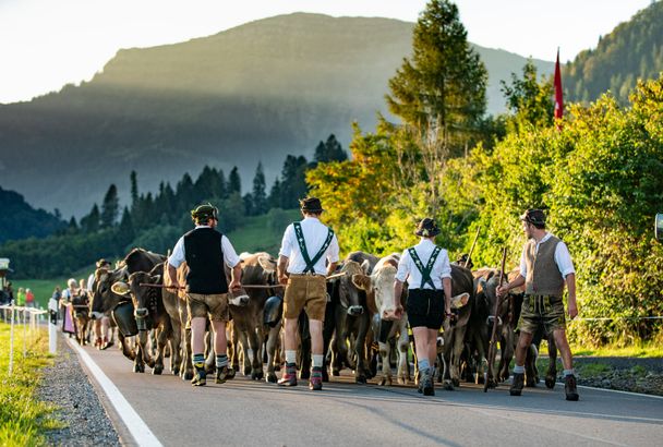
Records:
[[[323,388],[323,321],[327,305],[326,276],[336,270],[338,240],[330,228],[320,221],[323,207],[318,198],[300,201],[304,219],[286,228],[278,258],[279,282],[287,285],[284,298],[286,322],[286,371],[281,386],[297,385],[297,328],[302,309],[309,316],[313,367],[309,387]],[[325,261],[327,266],[325,267]]]

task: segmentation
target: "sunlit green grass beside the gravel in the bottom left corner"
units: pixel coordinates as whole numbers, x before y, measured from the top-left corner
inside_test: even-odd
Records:
[[[44,433],[61,426],[52,418],[55,406],[36,399],[39,370],[52,364],[46,329],[27,334],[23,358],[23,331],[14,331],[14,367],[9,376],[10,326],[0,323],[0,445],[45,445]]]

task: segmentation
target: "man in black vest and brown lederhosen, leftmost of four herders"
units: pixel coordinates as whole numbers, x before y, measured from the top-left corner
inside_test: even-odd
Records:
[[[216,352],[216,383],[228,378],[228,342],[226,323],[228,290],[241,288],[242,267],[240,258],[228,238],[215,230],[218,224],[218,209],[210,204],[201,205],[191,212],[195,228],[180,238],[168,258],[168,275],[173,285],[178,283],[177,270],[184,261],[189,266],[186,275],[186,307],[191,318],[191,347],[195,375],[193,386],[207,383],[205,373],[205,329],[209,317],[214,329],[214,350]],[[228,285],[224,264],[230,267],[231,279]]]

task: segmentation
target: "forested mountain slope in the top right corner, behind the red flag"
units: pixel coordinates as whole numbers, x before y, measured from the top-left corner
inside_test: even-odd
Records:
[[[639,11],[580,52],[563,72],[571,100],[593,101],[606,90],[622,104],[638,78],[656,78],[663,72],[663,2]]]

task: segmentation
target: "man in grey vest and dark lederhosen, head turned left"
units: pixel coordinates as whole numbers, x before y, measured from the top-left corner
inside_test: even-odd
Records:
[[[578,400],[576,376],[572,370],[571,349],[566,339],[564,316],[564,285],[568,287],[568,316],[578,315],[576,304],[576,270],[568,247],[558,238],[545,231],[545,215],[541,209],[528,209],[522,216],[522,231],[528,238],[520,256],[520,275],[497,288],[504,295],[510,289],[525,285],[525,300],[518,321],[518,345],[511,396],[520,396],[525,385],[525,358],[533,334],[543,327],[545,336],[553,334],[564,364],[566,400]]]

